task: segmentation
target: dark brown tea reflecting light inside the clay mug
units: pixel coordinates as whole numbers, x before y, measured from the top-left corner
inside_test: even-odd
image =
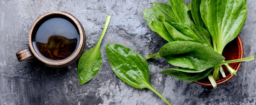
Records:
[[[37,28],[36,32],[32,33],[32,44],[42,58],[62,60],[77,50],[79,31],[71,20],[50,18],[41,22]]]

